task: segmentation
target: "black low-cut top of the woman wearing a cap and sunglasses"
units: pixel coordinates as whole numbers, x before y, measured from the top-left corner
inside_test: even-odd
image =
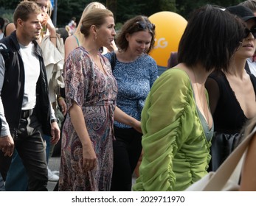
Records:
[[[249,74],[256,99],[256,77]],[[235,93],[229,85],[226,75],[223,72],[210,74],[210,77],[218,83],[220,96],[218,104],[213,114],[215,131],[229,134],[238,133],[248,118],[244,115],[243,110],[236,99]]]

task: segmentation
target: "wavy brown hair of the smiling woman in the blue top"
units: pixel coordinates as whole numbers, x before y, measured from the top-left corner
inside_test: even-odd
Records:
[[[119,50],[126,51],[126,49],[128,49],[129,43],[125,38],[127,34],[132,35],[135,32],[141,32],[146,30],[148,30],[148,32],[150,32],[152,36],[151,45],[149,46],[148,51],[146,51],[146,53],[148,54],[151,51],[151,49],[153,49],[153,45],[155,43],[155,29],[149,29],[148,26],[145,29],[142,29],[136,24],[140,21],[145,22],[146,25],[151,24],[151,21],[149,21],[148,17],[144,15],[137,15],[136,17],[129,19],[125,22],[125,24],[123,24],[122,29],[120,33],[117,35],[116,40]]]

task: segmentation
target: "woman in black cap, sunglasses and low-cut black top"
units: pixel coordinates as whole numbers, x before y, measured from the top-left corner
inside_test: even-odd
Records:
[[[227,7],[225,12],[241,18],[246,28],[228,71],[213,72],[207,79],[206,88],[215,124],[209,171],[221,166],[239,143],[243,124],[256,116],[256,78],[245,70],[246,59],[255,54],[256,17],[252,10],[241,5]]]

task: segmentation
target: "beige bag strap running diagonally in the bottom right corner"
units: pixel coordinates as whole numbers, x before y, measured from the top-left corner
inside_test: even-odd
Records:
[[[215,171],[215,174],[212,175],[210,181],[204,187],[203,191],[221,191],[222,188],[226,185],[226,182],[230,179],[232,173],[235,171],[235,168],[238,166],[239,160],[245,153],[252,137],[255,135],[256,127],[252,132],[243,139],[243,141],[238,145],[238,147],[226,158],[224,163]],[[242,165],[242,164],[241,164]],[[239,176],[241,174],[241,166],[238,168]]]

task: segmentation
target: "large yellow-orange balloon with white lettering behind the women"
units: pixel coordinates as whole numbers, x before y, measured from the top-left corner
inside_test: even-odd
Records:
[[[178,51],[179,40],[187,26],[181,15],[173,12],[159,12],[151,15],[149,20],[156,25],[154,49],[150,55],[157,65],[167,67],[171,51]]]

